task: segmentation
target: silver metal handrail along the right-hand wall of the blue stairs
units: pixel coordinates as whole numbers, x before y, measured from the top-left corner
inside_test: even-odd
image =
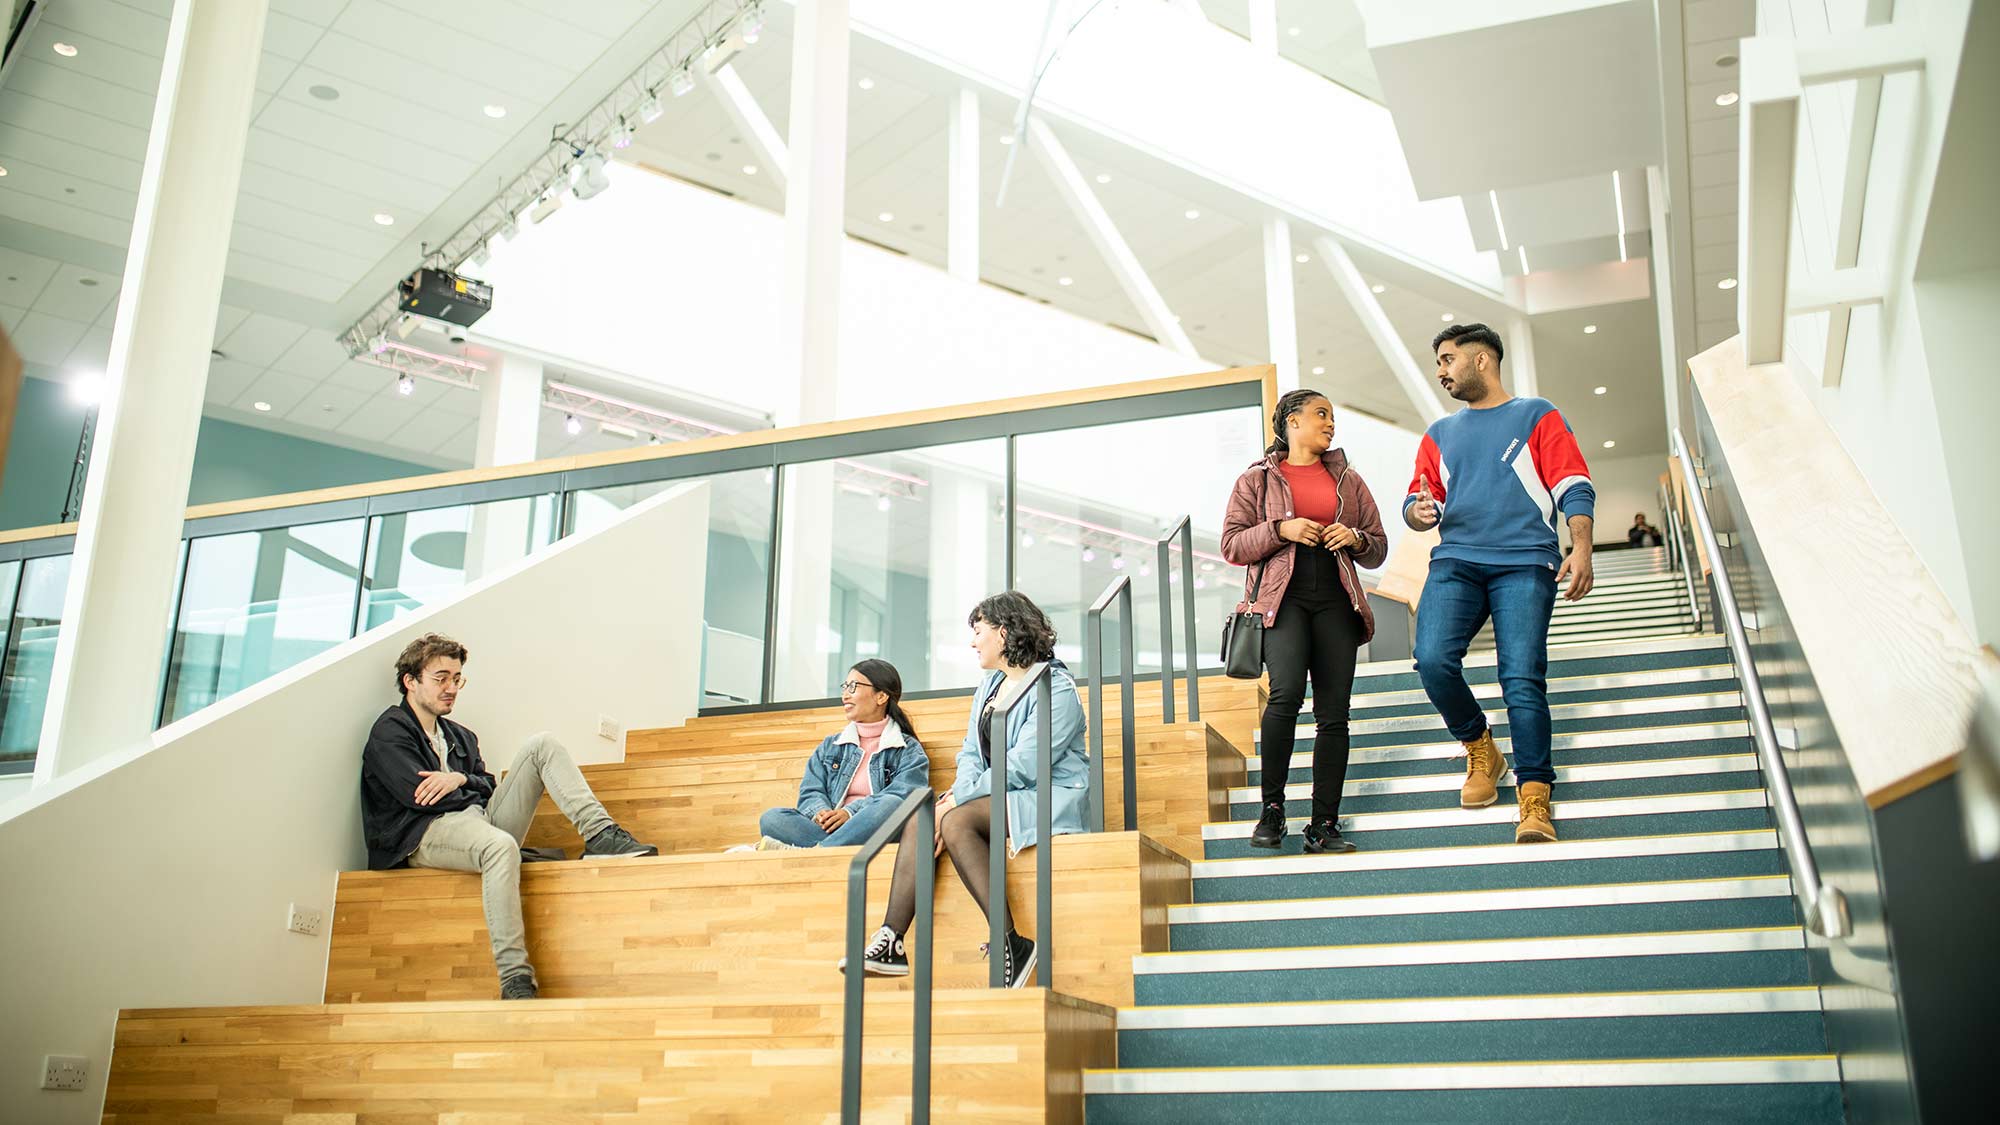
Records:
[[[1750,661],[1750,637],[1744,631],[1742,611],[1736,607],[1736,591],[1730,585],[1730,569],[1722,562],[1722,542],[1716,526],[1708,518],[1708,500],[1702,498],[1702,482],[1694,474],[1694,458],[1688,456],[1688,442],[1674,430],[1674,452],[1680,456],[1680,472],[1686,478],[1688,514],[1694,516],[1694,530],[1702,536],[1702,546],[1714,558],[1710,579],[1716,587],[1716,617],[1730,641],[1730,655],[1736,659],[1736,679],[1742,683],[1744,707],[1750,711],[1750,735],[1756,739],[1758,765],[1764,767],[1764,787],[1770,789],[1772,807],[1778,819],[1778,843],[1792,865],[1792,881],[1798,889],[1800,911],[1806,915],[1806,929],[1824,937],[1848,937],[1854,923],[1848,917],[1848,901],[1840,889],[1820,881],[1820,865],[1812,859],[1812,843],[1806,841],[1806,821],[1798,813],[1798,795],[1792,793],[1792,775],[1784,765],[1778,747],[1778,729],[1770,721],[1770,705],[1764,701],[1764,683]]]

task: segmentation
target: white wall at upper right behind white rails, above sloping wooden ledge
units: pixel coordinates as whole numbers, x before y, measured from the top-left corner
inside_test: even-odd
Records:
[[[1862,0],[1758,0],[1758,34],[1812,36],[1862,24]],[[1786,366],[1814,400],[1876,498],[1896,518],[1924,558],[1938,587],[1966,625],[1992,637],[1994,623],[1978,621],[1972,569],[1952,510],[1964,510],[1990,492],[1990,480],[1952,478],[1932,390],[1932,356],[1926,350],[1912,290],[1916,238],[1930,216],[1930,198],[1950,116],[1952,92],[1964,52],[1972,0],[1900,0],[1896,22],[1920,28],[1928,60],[1922,74],[1894,74],[1882,84],[1876,148],[1868,176],[1860,260],[1882,264],[1890,296],[1880,306],[1854,310],[1840,386],[1820,386],[1826,358],[1828,314],[1794,316],[1786,324]],[[1840,186],[1846,174],[1852,88],[1844,84],[1806,90],[1798,136],[1794,190],[1792,278],[1832,266]],[[1978,356],[1982,366],[1990,362]],[[1990,434],[1984,440],[1992,440]]]

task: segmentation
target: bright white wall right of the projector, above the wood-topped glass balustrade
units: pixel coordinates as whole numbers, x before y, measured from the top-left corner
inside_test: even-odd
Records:
[[[480,336],[772,410],[784,218],[610,174],[604,194],[494,248],[478,272],[500,300]],[[848,240],[840,268],[842,418],[1216,366],[866,242]]]

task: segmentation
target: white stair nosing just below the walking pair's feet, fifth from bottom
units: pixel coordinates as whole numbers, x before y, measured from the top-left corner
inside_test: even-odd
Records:
[[[1334,875],[1348,871],[1410,871],[1432,867],[1486,867],[1490,863],[1584,863],[1592,859],[1644,859],[1662,855],[1726,855],[1776,851],[1776,829],[1680,833],[1668,837],[1604,837],[1534,847],[1516,843],[1452,845],[1358,851],[1350,855],[1248,855],[1196,859],[1194,879],[1268,879],[1274,875]]]

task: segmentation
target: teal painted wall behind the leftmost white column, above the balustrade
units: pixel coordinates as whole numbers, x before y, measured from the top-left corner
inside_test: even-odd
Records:
[[[6,480],[0,482],[0,528],[56,522],[68,496],[82,426],[84,408],[70,400],[68,388],[46,378],[22,380],[6,450]],[[436,468],[202,418],[188,502],[212,504],[424,472]]]

